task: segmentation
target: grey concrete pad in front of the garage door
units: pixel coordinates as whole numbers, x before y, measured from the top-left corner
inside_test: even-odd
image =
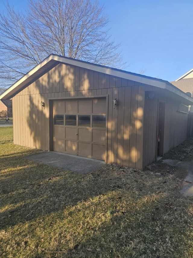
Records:
[[[61,152],[42,152],[25,158],[84,175],[105,165],[105,162],[102,160],[84,158]]]

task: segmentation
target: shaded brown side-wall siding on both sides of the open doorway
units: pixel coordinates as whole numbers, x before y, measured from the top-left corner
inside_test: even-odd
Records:
[[[145,98],[143,131],[143,168],[156,160],[157,123],[159,101],[163,99]],[[187,138],[188,114],[178,111],[178,102],[165,102],[163,154],[176,147]]]

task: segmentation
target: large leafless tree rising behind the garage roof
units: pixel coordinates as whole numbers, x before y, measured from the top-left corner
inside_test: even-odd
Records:
[[[91,0],[30,0],[25,14],[7,4],[0,14],[0,80],[14,83],[49,54],[122,67],[103,11]]]

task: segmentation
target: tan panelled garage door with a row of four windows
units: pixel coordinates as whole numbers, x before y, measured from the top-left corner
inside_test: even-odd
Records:
[[[106,99],[53,102],[54,151],[105,160]]]

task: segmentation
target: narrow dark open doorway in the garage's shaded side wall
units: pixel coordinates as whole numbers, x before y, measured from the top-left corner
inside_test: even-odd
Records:
[[[163,156],[164,122],[165,122],[165,102],[159,102],[158,129],[157,129],[157,156]]]

